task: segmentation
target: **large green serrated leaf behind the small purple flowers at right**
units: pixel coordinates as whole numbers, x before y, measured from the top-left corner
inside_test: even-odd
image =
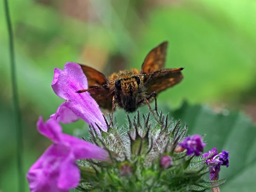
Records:
[[[216,147],[230,153],[230,166],[221,166],[220,179],[227,178],[221,192],[256,191],[256,126],[243,113],[214,113],[207,106],[186,102],[170,116],[188,124],[188,133],[206,134],[205,152]]]

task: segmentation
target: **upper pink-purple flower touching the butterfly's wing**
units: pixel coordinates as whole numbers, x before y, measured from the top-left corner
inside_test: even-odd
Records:
[[[88,82],[79,64],[66,63],[64,69],[55,68],[52,81],[52,89],[57,96],[65,99],[55,114],[51,118],[57,122],[73,122],[79,118],[84,119],[88,124],[94,125],[95,130],[100,134],[100,130],[107,131],[107,125],[99,105],[90,96],[90,93],[76,93],[81,89],[87,89]]]

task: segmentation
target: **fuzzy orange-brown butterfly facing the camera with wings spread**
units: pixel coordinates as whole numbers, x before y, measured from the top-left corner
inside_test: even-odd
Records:
[[[146,104],[154,115],[149,102],[155,99],[155,111],[157,111],[157,94],[183,79],[181,73],[183,67],[164,68],[167,44],[168,42],[165,41],[152,49],[145,57],[140,71],[122,70],[106,77],[92,67],[80,64],[87,77],[88,89],[78,90],[77,93],[88,91],[100,107],[112,111],[112,116],[116,105],[126,112],[134,112]]]

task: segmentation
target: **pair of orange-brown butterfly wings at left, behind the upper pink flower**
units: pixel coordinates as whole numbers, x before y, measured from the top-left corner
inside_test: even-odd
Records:
[[[88,90],[90,95],[96,100],[100,107],[111,110],[113,94],[110,93],[108,86],[99,87],[108,84],[108,78],[103,73],[100,73],[91,67],[82,64],[79,65],[87,77],[88,88],[98,87],[96,89]]]

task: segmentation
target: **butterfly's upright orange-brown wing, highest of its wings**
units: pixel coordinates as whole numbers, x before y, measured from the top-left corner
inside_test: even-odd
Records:
[[[152,49],[146,56],[140,70],[140,74],[153,73],[165,66],[167,41]]]

